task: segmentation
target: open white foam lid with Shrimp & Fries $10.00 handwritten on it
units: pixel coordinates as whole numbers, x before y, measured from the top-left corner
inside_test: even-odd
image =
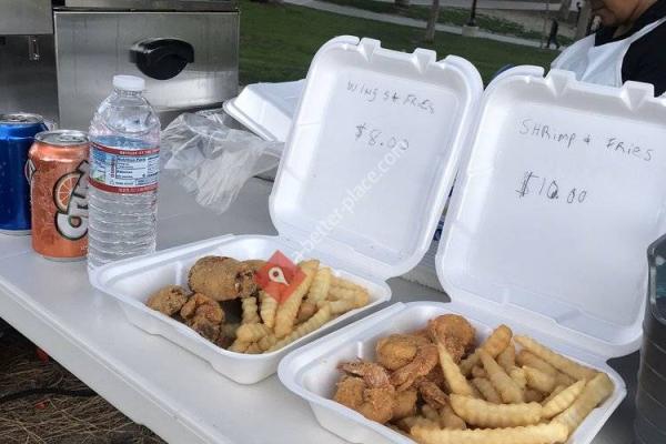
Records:
[[[486,90],[437,253],[454,304],[595,356],[639,347],[666,231],[666,99],[522,67]]]

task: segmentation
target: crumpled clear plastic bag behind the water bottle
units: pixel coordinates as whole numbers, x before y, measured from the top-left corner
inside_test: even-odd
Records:
[[[248,179],[278,165],[283,145],[232,124],[223,112],[205,111],[181,114],[162,131],[162,170],[218,213],[229,209]]]

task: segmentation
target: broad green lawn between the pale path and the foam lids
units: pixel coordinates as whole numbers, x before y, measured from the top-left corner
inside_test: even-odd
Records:
[[[506,64],[549,65],[554,51],[465,38],[438,32],[434,44],[423,41],[424,30],[356,19],[313,9],[241,0],[240,78],[242,84],[280,82],[305,77],[316,50],[335,36],[371,37],[384,48],[412,52],[415,48],[464,57],[485,82]]]

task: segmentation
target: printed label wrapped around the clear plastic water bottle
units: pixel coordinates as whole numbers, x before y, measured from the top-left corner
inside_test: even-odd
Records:
[[[158,189],[160,149],[121,150],[92,143],[90,184],[111,193],[138,194]]]

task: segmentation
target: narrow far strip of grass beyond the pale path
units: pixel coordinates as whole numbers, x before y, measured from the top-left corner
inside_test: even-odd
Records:
[[[427,20],[430,17],[430,8],[412,4],[408,8],[400,8],[394,3],[386,3],[375,0],[323,0],[329,3],[341,4],[345,7],[353,7],[364,9],[366,11],[390,13],[395,16],[408,17],[411,19]],[[462,27],[470,20],[470,10],[461,8],[440,8],[440,23],[453,24]],[[521,37],[529,40],[541,40],[542,34],[537,31],[525,29],[519,23],[515,23],[509,20],[498,19],[496,17],[485,16],[483,12],[477,12],[476,24],[490,32],[494,32],[503,36]],[[549,28],[548,28],[549,30]],[[561,43],[571,44],[572,39],[559,36]]]

